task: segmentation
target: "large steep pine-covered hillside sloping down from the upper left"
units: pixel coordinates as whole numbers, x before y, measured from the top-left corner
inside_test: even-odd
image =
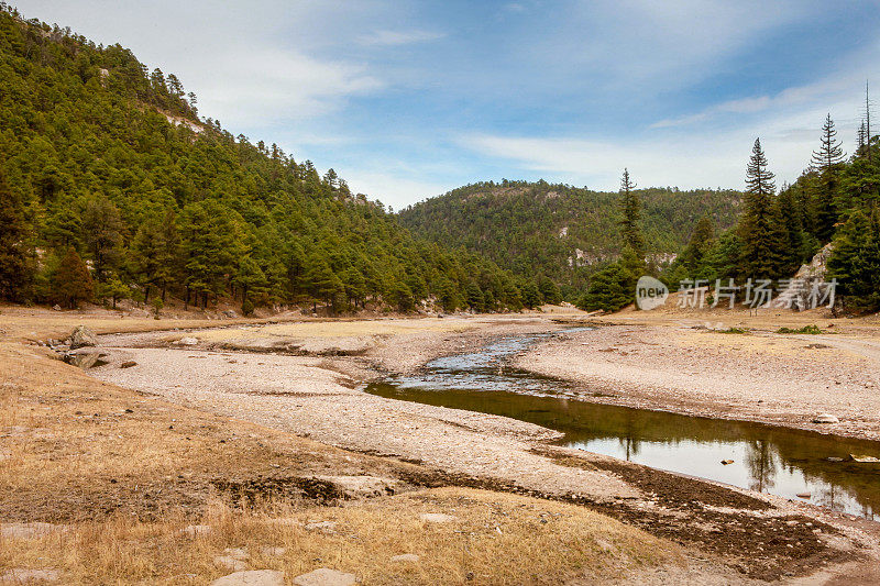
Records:
[[[120,45],[0,11],[0,298],[518,309],[535,285],[422,241],[276,145],[202,120]]]

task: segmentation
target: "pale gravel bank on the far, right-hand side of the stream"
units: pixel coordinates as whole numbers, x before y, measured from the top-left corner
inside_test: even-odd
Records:
[[[583,398],[880,440],[880,339],[600,325],[547,341],[518,366]],[[820,413],[836,424],[816,424]]]

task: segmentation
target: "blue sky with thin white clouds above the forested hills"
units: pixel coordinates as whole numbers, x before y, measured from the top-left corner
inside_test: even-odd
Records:
[[[481,180],[793,181],[880,96],[875,0],[21,0],[174,73],[232,134],[394,209]],[[880,109],[878,109],[880,124]],[[880,126],[879,126],[880,128]]]

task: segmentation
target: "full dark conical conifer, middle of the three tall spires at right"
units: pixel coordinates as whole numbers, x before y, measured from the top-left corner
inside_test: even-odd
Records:
[[[776,279],[782,276],[785,235],[776,204],[773,174],[767,170],[767,157],[756,139],[746,170],[746,195],[739,219],[743,251],[740,276],[752,279]]]

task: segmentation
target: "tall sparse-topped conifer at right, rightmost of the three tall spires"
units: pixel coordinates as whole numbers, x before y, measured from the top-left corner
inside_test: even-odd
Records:
[[[844,151],[837,140],[837,130],[834,128],[832,115],[828,114],[822,126],[822,145],[818,151],[813,151],[810,162],[811,169],[818,174],[820,179],[814,199],[814,214],[816,237],[821,242],[828,242],[834,235],[834,224],[837,223],[838,217],[839,170],[844,158]]]

